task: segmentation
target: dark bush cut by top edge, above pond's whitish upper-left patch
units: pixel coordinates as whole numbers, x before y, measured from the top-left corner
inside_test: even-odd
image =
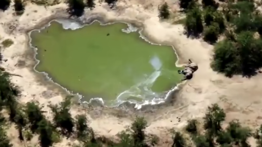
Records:
[[[67,11],[71,16],[82,16],[84,14],[85,4],[83,0],[67,0]]]

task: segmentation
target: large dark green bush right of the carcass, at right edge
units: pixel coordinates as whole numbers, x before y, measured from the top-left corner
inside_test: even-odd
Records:
[[[225,40],[215,46],[213,70],[226,76],[241,74],[252,76],[261,65],[261,39],[255,39],[254,33],[243,31],[236,36],[236,41]]]

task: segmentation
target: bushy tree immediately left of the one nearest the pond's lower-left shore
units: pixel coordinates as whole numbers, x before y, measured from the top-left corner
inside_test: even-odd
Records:
[[[34,133],[39,128],[39,122],[44,119],[43,111],[36,102],[28,102],[25,106],[25,114],[30,123],[30,129]]]

